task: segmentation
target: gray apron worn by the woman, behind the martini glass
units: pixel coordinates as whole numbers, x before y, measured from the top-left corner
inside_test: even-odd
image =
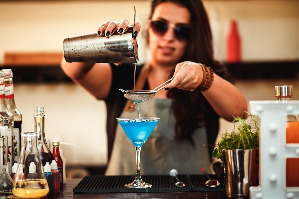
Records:
[[[140,117],[159,117],[160,120],[141,147],[140,172],[142,174],[168,175],[171,169],[179,174],[201,174],[205,168],[210,172],[210,155],[205,127],[193,133],[195,147],[189,141],[178,142],[174,139],[175,118],[170,111],[171,99],[152,98],[141,102]],[[123,111],[120,117],[138,117],[137,106],[132,111]],[[112,154],[106,175],[135,175],[136,153],[123,129],[118,124],[115,132]]]

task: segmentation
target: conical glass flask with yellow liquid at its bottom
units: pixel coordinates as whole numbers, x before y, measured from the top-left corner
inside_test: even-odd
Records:
[[[41,197],[49,192],[49,186],[42,166],[42,161],[37,150],[37,133],[22,132],[22,148],[13,183],[13,195],[17,197]],[[29,166],[36,165],[36,179],[30,179]],[[23,173],[24,172],[24,173]]]

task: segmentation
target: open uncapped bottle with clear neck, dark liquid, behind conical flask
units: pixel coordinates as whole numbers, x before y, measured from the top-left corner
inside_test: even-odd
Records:
[[[46,162],[52,163],[54,157],[48,147],[45,138],[45,109],[44,107],[34,108],[34,132],[37,132],[37,141],[39,144],[39,155],[42,160],[42,165],[45,166]]]

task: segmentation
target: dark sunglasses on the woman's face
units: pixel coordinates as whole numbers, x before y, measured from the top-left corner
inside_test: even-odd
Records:
[[[168,25],[163,21],[152,21],[150,19],[147,21],[150,23],[152,31],[158,36],[163,36],[167,32],[168,28],[172,27],[174,29],[174,36],[179,41],[187,41],[189,38],[190,28],[187,26],[174,24]]]

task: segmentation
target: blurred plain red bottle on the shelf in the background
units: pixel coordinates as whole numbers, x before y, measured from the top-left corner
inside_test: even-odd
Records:
[[[241,39],[238,32],[237,22],[231,21],[230,31],[227,38],[227,62],[234,63],[241,61]]]

